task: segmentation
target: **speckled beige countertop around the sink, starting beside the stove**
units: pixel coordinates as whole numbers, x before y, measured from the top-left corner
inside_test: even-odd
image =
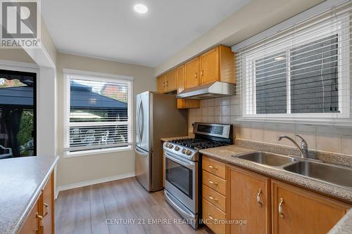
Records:
[[[277,178],[281,181],[287,181],[291,184],[295,184],[303,188],[308,188],[309,190],[315,190],[318,193],[336,197],[339,200],[352,203],[352,190],[348,190],[339,186],[333,186],[331,184],[316,181],[311,178],[306,178],[279,168],[267,167],[265,165],[256,164],[248,160],[242,160],[238,157],[232,157],[232,155],[239,155],[243,152],[249,152],[253,150],[258,149],[244,148],[242,145],[241,147],[237,145],[227,145],[218,148],[204,149],[200,150],[199,152],[215,160],[220,160],[234,166],[256,171],[259,174],[270,176],[271,178]],[[337,223],[336,226],[334,226],[334,228],[332,228],[332,230],[330,230],[329,233],[352,233],[352,209],[341,219],[341,221],[339,221],[339,223]]]

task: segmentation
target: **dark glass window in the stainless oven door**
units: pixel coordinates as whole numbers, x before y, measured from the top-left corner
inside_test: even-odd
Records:
[[[165,179],[187,197],[193,199],[193,171],[187,167],[165,158]]]

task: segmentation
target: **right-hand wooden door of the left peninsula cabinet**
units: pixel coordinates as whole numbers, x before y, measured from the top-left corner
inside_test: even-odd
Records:
[[[54,176],[51,174],[42,191],[43,195],[43,233],[54,233]]]

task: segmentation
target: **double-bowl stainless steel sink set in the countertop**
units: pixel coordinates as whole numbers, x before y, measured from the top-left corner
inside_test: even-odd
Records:
[[[318,162],[318,160],[289,157],[262,151],[243,153],[233,157],[352,190],[352,169],[346,167]]]

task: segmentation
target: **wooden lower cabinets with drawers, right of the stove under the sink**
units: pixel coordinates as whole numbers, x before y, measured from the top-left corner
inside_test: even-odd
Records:
[[[203,219],[214,233],[328,233],[352,207],[206,155],[202,167]]]

